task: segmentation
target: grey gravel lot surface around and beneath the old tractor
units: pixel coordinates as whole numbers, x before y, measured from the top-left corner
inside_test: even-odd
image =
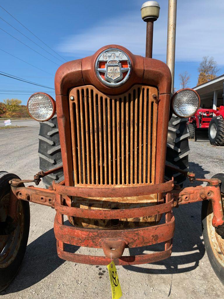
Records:
[[[0,130],[0,169],[22,179],[32,178],[39,170],[37,135],[37,126]],[[207,142],[190,142],[190,147],[190,169],[197,176],[210,178],[224,171],[223,147]],[[170,258],[153,264],[117,267],[122,298],[223,298],[224,286],[215,276],[203,245],[200,209],[201,203],[197,203],[174,210],[176,228]],[[30,236],[22,267],[1,298],[111,298],[106,266],[75,264],[57,256],[55,211],[31,203],[30,213]],[[77,247],[76,252],[90,254],[86,248]],[[138,252],[147,251],[139,248]]]

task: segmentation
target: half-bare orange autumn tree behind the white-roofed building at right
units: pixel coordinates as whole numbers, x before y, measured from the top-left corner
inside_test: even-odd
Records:
[[[197,70],[199,72],[197,85],[201,85],[216,78],[217,73],[220,71],[214,57],[208,58],[208,56],[203,57]]]

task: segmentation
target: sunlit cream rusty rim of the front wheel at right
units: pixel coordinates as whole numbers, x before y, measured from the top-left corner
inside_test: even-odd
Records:
[[[222,194],[222,198],[224,195]],[[213,251],[214,256],[217,261],[224,267],[224,239],[217,234],[216,229],[212,226],[212,218],[213,218],[213,209],[212,203],[209,201],[208,210],[207,210],[207,228],[208,228],[208,237],[209,242]]]

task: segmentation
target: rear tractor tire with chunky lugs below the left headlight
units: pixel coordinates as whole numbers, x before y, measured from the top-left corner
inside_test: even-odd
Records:
[[[40,170],[48,171],[50,169],[62,166],[62,153],[59,140],[57,115],[48,121],[40,123],[38,155],[40,160]],[[63,181],[63,170],[56,171],[42,180],[46,188],[52,185],[53,181]]]

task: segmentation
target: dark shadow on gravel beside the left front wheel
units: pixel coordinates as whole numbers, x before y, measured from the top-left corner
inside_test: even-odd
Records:
[[[69,225],[69,222],[65,221],[65,224]],[[79,249],[79,246],[71,247],[71,252]],[[0,296],[19,292],[33,286],[59,268],[63,263],[65,263],[65,260],[60,259],[57,255],[56,239],[52,228],[27,245],[22,266],[12,283],[0,293]],[[58,283],[60,282],[58,281]],[[48,283],[50,284],[51,282],[48,281]]]

